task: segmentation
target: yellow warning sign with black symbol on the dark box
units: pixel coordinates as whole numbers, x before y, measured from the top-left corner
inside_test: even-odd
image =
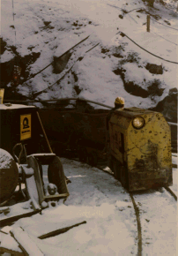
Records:
[[[20,116],[20,140],[31,138],[31,115]]]

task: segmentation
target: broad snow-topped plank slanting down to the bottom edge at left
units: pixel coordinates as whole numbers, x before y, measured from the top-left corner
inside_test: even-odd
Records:
[[[41,249],[34,243],[34,241],[28,236],[25,230],[22,230],[20,227],[14,228],[10,231],[11,235],[18,242],[19,247],[25,252],[25,255],[29,256],[42,256],[44,255],[41,252]]]

